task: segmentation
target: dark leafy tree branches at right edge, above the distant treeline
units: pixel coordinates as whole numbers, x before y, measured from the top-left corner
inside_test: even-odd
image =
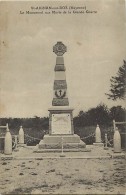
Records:
[[[117,100],[125,99],[126,94],[126,61],[123,60],[124,64],[119,68],[117,76],[110,79],[110,93],[106,94],[108,99]]]

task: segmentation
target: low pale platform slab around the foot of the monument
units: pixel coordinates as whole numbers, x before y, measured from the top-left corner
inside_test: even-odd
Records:
[[[44,160],[44,159],[125,159],[125,152],[115,154],[112,148],[109,150],[104,150],[102,147],[97,147],[94,145],[87,145],[83,148],[83,151],[70,152],[69,149],[61,152],[61,149],[51,150],[43,149],[38,150],[38,145],[27,146],[19,148],[18,152],[12,152],[12,155],[0,154],[0,160]],[[81,149],[80,149],[81,150]],[[34,152],[37,151],[37,152]],[[47,152],[46,152],[47,151]],[[55,151],[55,152],[54,152]],[[68,152],[67,152],[68,151]],[[63,154],[63,157],[62,157]],[[64,157],[65,155],[65,157]]]

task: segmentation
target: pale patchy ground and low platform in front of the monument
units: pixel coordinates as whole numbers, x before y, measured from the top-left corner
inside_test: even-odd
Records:
[[[124,194],[125,158],[111,158],[111,149],[90,148],[65,157],[20,148],[12,160],[0,160],[0,193]]]

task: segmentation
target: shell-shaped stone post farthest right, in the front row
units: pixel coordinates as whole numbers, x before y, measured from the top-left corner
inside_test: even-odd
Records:
[[[114,143],[114,152],[120,153],[121,152],[121,136],[120,136],[120,133],[117,127],[115,129],[113,143]]]

